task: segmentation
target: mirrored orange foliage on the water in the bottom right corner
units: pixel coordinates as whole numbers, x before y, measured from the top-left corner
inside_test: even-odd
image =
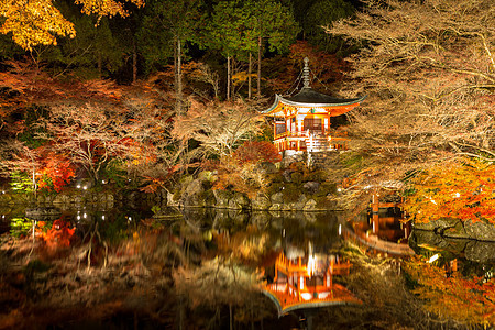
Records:
[[[464,278],[459,272],[446,272],[420,258],[405,264],[406,272],[418,282],[414,289],[426,300],[427,308],[468,324],[495,324],[495,278]]]

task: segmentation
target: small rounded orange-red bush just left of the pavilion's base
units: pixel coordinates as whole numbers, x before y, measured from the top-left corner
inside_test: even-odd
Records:
[[[240,163],[258,163],[282,161],[282,155],[273,143],[267,141],[246,141],[233,153],[233,157]]]

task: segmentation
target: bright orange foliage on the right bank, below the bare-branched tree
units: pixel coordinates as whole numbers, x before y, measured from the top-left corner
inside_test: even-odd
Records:
[[[418,177],[405,209],[415,221],[440,218],[495,224],[495,166],[479,161],[439,164]]]

